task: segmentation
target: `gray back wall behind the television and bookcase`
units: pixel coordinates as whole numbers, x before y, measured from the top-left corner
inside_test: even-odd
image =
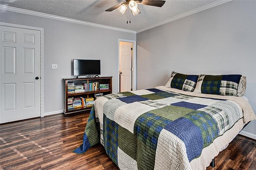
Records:
[[[100,59],[102,75],[113,76],[113,92],[118,91],[118,39],[136,40],[136,34],[0,12],[0,22],[44,28],[44,115],[62,113],[62,78],[73,77],[72,59]]]

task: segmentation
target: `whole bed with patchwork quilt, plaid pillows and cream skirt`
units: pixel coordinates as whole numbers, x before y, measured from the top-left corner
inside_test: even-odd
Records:
[[[245,81],[173,71],[165,86],[100,97],[74,152],[100,142],[121,170],[204,170],[256,119]]]

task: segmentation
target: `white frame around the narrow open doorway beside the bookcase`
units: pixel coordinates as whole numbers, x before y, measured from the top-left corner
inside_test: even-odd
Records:
[[[136,45],[136,41],[134,40],[124,40],[124,39],[119,39],[118,38],[118,73],[117,73],[117,77],[118,77],[118,92],[120,92],[120,79],[119,79],[119,57],[120,57],[120,42],[130,42],[133,43],[132,45],[132,89],[133,90],[137,90],[137,45]]]

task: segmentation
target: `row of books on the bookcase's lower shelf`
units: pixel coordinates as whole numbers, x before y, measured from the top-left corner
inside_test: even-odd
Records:
[[[83,109],[86,107],[92,107],[94,98],[84,98],[84,97],[69,97],[68,98],[68,111],[74,109]]]

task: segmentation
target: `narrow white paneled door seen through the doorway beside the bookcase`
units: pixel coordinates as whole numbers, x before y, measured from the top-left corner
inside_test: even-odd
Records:
[[[121,45],[120,65],[121,80],[120,92],[131,91],[132,89],[132,50],[131,43]]]

